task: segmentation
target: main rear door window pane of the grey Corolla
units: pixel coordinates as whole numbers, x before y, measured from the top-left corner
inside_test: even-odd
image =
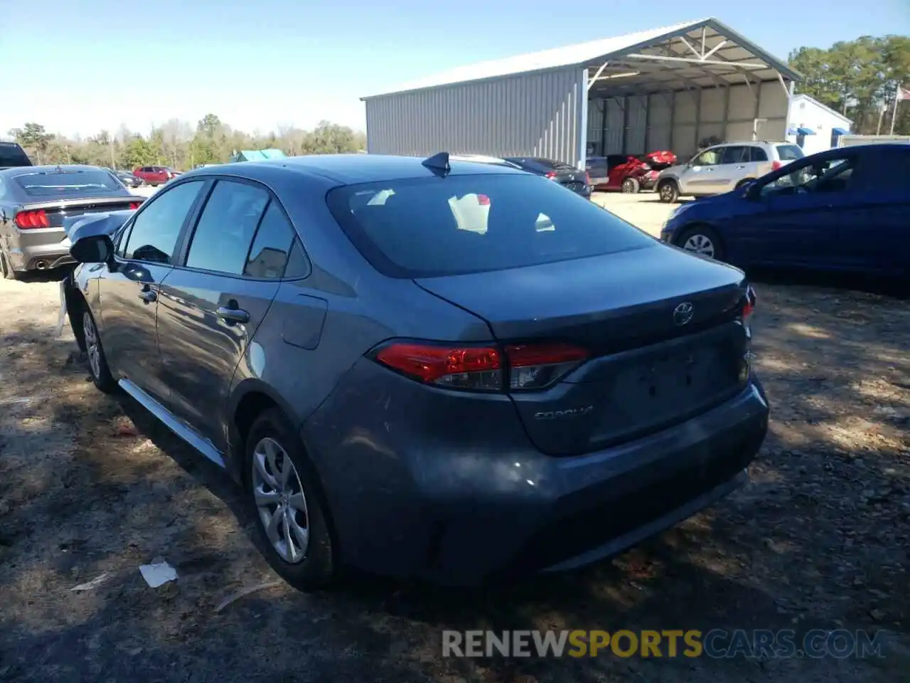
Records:
[[[265,189],[218,180],[193,232],[187,268],[243,274],[268,199]]]

